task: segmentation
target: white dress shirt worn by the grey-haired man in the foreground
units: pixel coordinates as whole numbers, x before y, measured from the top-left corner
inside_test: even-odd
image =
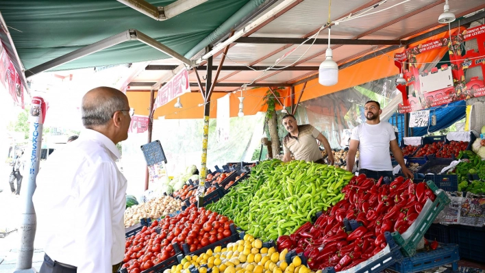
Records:
[[[33,201],[44,250],[78,273],[110,273],[123,261],[127,180],[114,162],[120,156],[109,138],[86,129],[42,162]]]

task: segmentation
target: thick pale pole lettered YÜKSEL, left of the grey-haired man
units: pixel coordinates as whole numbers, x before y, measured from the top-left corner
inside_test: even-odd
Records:
[[[36,237],[37,217],[32,203],[32,196],[36,190],[36,177],[40,165],[40,151],[42,147],[42,124],[45,117],[45,103],[44,100],[38,96],[32,98],[32,109],[30,110],[29,122],[29,148],[25,157],[29,157],[29,161],[25,161],[25,170],[29,170],[28,179],[26,179],[25,196],[23,199],[23,217],[21,226],[21,245],[18,248],[18,259],[16,270],[14,272],[37,272],[32,268],[32,257],[34,256],[34,239]],[[25,183],[25,182],[24,182]]]

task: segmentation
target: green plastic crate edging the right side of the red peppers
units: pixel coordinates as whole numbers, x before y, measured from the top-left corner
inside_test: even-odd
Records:
[[[401,252],[405,257],[412,257],[416,254],[416,246],[418,246],[421,239],[423,239],[427,229],[430,228],[434,219],[438,217],[438,213],[451,202],[445,192],[438,189],[433,181],[427,181],[426,183],[434,194],[436,194],[436,199],[433,202],[432,208],[427,211],[424,217],[421,218],[421,221],[417,223],[414,233],[412,233],[407,240],[403,239],[401,234],[397,231],[392,233],[394,241],[401,246]]]

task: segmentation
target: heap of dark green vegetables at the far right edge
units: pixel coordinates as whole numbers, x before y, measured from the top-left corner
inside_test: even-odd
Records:
[[[481,180],[485,180],[485,161],[472,151],[461,151],[458,159],[467,157],[469,162],[462,161],[456,166],[455,173],[458,176],[458,191],[480,194],[485,192],[485,182],[475,180],[469,182],[468,174],[477,174]]]

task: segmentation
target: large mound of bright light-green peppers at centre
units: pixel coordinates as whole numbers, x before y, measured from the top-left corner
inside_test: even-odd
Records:
[[[342,200],[340,190],[352,177],[334,166],[273,159],[251,170],[252,182],[234,186],[208,209],[228,216],[255,237],[276,239]]]

